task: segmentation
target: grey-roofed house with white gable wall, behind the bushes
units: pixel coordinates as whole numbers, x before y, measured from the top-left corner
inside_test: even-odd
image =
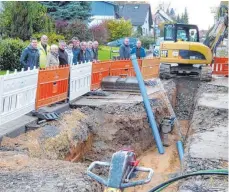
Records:
[[[149,4],[123,4],[119,5],[119,17],[129,19],[134,31],[141,27],[142,35],[152,35],[152,14]]]

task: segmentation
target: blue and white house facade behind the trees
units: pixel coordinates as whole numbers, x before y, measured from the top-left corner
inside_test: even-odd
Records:
[[[89,26],[98,25],[103,20],[115,19],[117,14],[117,5],[108,1],[91,2],[91,22]]]

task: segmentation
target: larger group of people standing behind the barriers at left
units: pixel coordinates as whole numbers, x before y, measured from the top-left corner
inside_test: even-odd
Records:
[[[98,46],[97,41],[80,42],[76,37],[67,44],[65,41],[59,41],[59,46],[56,44],[49,46],[48,37],[43,35],[39,43],[36,38],[31,38],[30,45],[22,52],[20,62],[25,70],[29,67],[32,69],[96,62],[98,61]]]

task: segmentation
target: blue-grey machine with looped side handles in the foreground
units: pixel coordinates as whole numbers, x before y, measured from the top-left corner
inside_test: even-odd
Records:
[[[111,162],[95,161],[87,170],[87,175],[105,186],[104,192],[123,192],[125,188],[144,185],[151,181],[153,170],[138,167],[139,161],[132,150],[124,149],[113,154]],[[92,172],[96,167],[109,167],[108,178],[103,178]],[[135,180],[137,173],[147,172],[145,179]],[[134,179],[135,178],[135,179]]]

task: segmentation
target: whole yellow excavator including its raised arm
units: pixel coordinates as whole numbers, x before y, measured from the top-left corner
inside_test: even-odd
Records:
[[[227,35],[228,7],[221,5],[219,11],[222,9],[224,12],[208,32],[204,43],[199,41],[196,25],[176,23],[164,26],[164,42],[160,44],[160,78],[187,74],[211,81],[213,54]]]

